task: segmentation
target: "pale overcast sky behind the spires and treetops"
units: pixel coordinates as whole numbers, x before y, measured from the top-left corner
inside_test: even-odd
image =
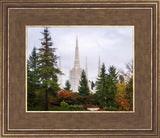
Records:
[[[27,28],[27,57],[33,47],[41,47],[43,27]],[[98,58],[105,63],[106,70],[111,65],[125,69],[125,64],[133,59],[133,27],[49,27],[56,55],[61,58],[63,83],[69,78],[74,66],[76,36],[78,36],[80,66],[85,68],[88,59],[88,77],[95,81],[98,73]],[[37,50],[38,52],[38,50]]]

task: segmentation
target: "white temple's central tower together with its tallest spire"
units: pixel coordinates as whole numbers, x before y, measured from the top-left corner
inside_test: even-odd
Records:
[[[73,90],[73,92],[78,92],[81,73],[82,73],[82,68],[80,67],[80,61],[79,61],[79,47],[78,47],[78,37],[77,37],[74,67],[69,72],[69,82],[71,84],[71,89]]]

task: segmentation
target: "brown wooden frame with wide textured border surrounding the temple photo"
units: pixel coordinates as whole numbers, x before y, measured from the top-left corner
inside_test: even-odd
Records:
[[[2,136],[144,136],[158,138],[158,130],[160,130],[158,126],[160,121],[158,119],[158,115],[160,115],[158,106],[160,105],[158,103],[159,1],[13,0],[1,1],[0,4],[1,19],[3,19],[0,24],[2,28],[0,34],[0,39],[2,39],[1,66],[3,67],[1,68],[2,93],[0,95],[2,99]],[[71,13],[73,15],[68,17],[70,19],[68,20],[65,16]],[[53,19],[41,20],[43,15],[51,16]],[[112,19],[110,15],[113,16]],[[84,21],[80,19],[84,19]],[[111,19],[111,21],[107,19]],[[93,20],[94,22],[92,22]],[[53,23],[55,25],[117,25],[117,22],[118,25],[135,26],[135,98],[137,102],[135,102],[134,114],[25,112],[26,47],[24,27],[26,25],[37,25],[38,23],[41,25],[52,25]],[[139,76],[143,76],[144,80],[140,80]],[[19,85],[22,88],[19,88]],[[146,92],[144,93],[144,91]],[[17,107],[19,103],[22,106]],[[118,116],[120,119],[116,119]],[[65,117],[70,118],[65,119]],[[40,124],[33,118],[41,118]],[[92,123],[89,118],[95,118],[97,122]],[[120,121],[121,119],[124,119],[124,124]],[[89,123],[86,123],[86,120]],[[100,120],[105,124],[99,124]],[[109,122],[109,120],[112,121]],[[43,125],[42,122],[44,122]]]

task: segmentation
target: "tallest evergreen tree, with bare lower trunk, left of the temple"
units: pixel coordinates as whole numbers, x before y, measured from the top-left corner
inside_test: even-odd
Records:
[[[55,48],[52,47],[52,41],[48,28],[44,28],[41,39],[42,47],[39,48],[37,71],[39,73],[42,87],[45,91],[45,110],[48,110],[48,92],[52,91],[54,94],[58,92],[59,86],[57,84],[57,74],[60,70],[57,68],[57,56],[55,55]]]

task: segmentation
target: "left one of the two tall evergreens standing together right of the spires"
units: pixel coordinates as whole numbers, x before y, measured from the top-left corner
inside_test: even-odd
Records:
[[[96,95],[97,100],[99,103],[99,107],[105,107],[106,106],[106,69],[105,64],[102,64],[101,73],[98,76],[97,82],[96,82]]]

